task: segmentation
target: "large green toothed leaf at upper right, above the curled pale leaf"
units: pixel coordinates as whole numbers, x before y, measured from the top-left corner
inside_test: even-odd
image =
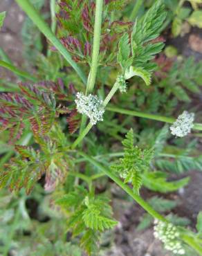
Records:
[[[134,57],[133,66],[142,68],[137,70],[137,75],[145,80],[147,85],[150,84],[152,71],[156,68],[154,62],[150,62],[154,59],[154,55],[160,53],[164,44],[157,39],[160,35],[160,29],[165,21],[166,12],[163,1],[156,1],[152,8],[150,8],[145,16],[141,19],[136,19],[134,29],[131,34],[131,51]],[[145,73],[145,72],[149,73]]]

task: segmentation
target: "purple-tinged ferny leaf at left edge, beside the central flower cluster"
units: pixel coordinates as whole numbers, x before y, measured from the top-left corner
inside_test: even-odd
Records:
[[[43,81],[37,84],[20,83],[20,93],[1,93],[0,130],[10,131],[10,142],[15,142],[29,121],[35,137],[48,134],[59,114],[70,113],[57,101],[67,101],[62,81]]]

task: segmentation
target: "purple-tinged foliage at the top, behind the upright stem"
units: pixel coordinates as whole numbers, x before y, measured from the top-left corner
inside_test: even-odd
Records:
[[[124,4],[124,1],[105,1],[104,13],[113,10],[114,6],[123,6]],[[71,53],[75,62],[90,64],[95,1],[62,0],[59,7],[57,21],[59,22],[60,41]],[[131,33],[133,24],[133,22],[111,21],[107,15],[103,15],[100,41],[101,64],[116,66],[119,39],[123,33]],[[68,35],[66,35],[66,31],[68,31]],[[61,35],[64,36],[61,37]]]

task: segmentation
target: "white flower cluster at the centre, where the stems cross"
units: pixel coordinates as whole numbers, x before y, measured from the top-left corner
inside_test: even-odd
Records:
[[[88,116],[92,125],[98,121],[103,121],[104,107],[98,96],[92,94],[86,96],[84,93],[77,93],[75,103],[77,104],[77,111]]]

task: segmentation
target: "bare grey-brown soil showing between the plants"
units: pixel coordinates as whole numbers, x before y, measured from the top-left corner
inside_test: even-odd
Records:
[[[18,66],[24,64],[22,57],[23,44],[21,42],[21,26],[24,21],[24,13],[19,9],[17,4],[12,0],[4,0],[0,3],[0,12],[7,11],[6,20],[0,31],[0,47],[8,54],[10,59]],[[184,37],[169,39],[169,44],[173,44],[178,48],[181,55],[194,55],[196,60],[202,60],[201,50],[202,33],[201,30],[192,28],[190,33]],[[12,75],[4,68],[0,68],[1,78],[6,78],[12,82],[16,82],[15,75]],[[191,181],[187,187],[180,190],[176,194],[169,194],[181,201],[180,205],[175,209],[181,217],[187,217],[192,221],[194,226],[196,214],[202,209],[202,173],[188,173]],[[118,192],[118,188],[113,188]],[[120,191],[118,193],[121,193]],[[143,215],[144,210],[134,202],[129,202],[117,198],[117,193],[113,191],[116,197],[113,200],[114,212],[116,218],[120,221],[115,231],[115,239],[109,253],[104,255],[110,256],[169,256],[169,253],[163,250],[160,241],[154,239],[153,228],[144,231],[137,231],[136,226]],[[145,197],[149,198],[151,194],[145,193]]]

